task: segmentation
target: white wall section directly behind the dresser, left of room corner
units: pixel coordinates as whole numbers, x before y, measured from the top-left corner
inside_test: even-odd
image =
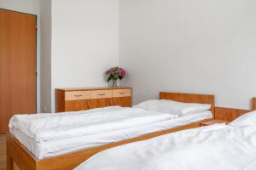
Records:
[[[52,1],[52,111],[55,88],[106,86],[119,64],[119,0]]]

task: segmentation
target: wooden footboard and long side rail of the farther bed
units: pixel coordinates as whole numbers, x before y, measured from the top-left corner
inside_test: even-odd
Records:
[[[208,120],[205,120],[208,121]],[[201,122],[205,122],[201,121]],[[21,170],[70,170],[74,167],[77,167],[80,163],[84,162],[85,160],[89,159],[91,156],[94,156],[96,153],[107,150],[109,148],[113,148],[115,146],[119,146],[122,144],[129,144],[132,142],[142,141],[145,139],[152,139],[154,137],[164,135],[167,133],[174,133],[177,131],[189,129],[189,128],[195,128],[200,127],[201,122],[196,122],[193,124],[189,124],[182,127],[175,127],[172,129],[168,129],[165,131],[160,131],[156,133],[149,133],[145,134],[143,136],[134,138],[134,139],[126,139],[123,141],[111,143],[111,144],[104,144],[102,146],[86,149],[86,150],[79,150],[76,152],[68,153],[61,156],[54,156],[43,160],[35,159],[34,156],[32,156],[26,148],[20,144],[20,142],[15,139],[11,134],[8,134],[8,167],[12,167],[12,162],[15,161],[16,164],[21,167]],[[22,156],[21,159],[19,159],[18,156]],[[19,160],[19,161],[16,161]],[[9,170],[13,170],[9,168]]]

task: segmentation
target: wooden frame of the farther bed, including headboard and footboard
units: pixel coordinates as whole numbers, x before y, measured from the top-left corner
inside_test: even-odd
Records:
[[[213,95],[203,95],[203,94],[177,94],[177,93],[167,93],[160,92],[160,99],[172,99],[180,102],[187,103],[201,103],[212,105],[212,114],[214,115],[214,96]],[[209,120],[204,120],[201,122],[206,122]],[[131,142],[141,141],[145,139],[152,139],[154,137],[173,133],[184,129],[200,127],[201,122],[192,123],[182,127],[175,127],[172,129],[148,133],[143,136],[125,139],[119,142],[114,142],[111,144],[104,144],[101,146],[93,147],[90,149],[74,151],[61,156],[53,156],[38,160],[33,156],[30,151],[26,149],[23,144],[15,139],[15,137],[8,133],[7,135],[7,167],[8,170],[20,169],[20,170],[69,170],[77,167],[80,163],[84,162],[90,156],[94,156],[96,153],[107,150],[109,148],[119,146],[122,144],[129,144]]]

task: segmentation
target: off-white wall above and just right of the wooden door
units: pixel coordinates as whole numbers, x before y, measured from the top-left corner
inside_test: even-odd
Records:
[[[5,8],[9,10],[15,10],[27,14],[37,14],[38,15],[38,28],[40,27],[40,7],[39,0],[0,0],[0,8]],[[38,29],[37,35],[37,109],[40,111],[40,29]]]

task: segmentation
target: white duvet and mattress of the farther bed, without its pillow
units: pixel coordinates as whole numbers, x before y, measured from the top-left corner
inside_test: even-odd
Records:
[[[43,159],[210,118],[211,111],[178,116],[140,108],[108,107],[18,116],[13,117],[9,126],[10,133],[21,144],[38,159]]]

